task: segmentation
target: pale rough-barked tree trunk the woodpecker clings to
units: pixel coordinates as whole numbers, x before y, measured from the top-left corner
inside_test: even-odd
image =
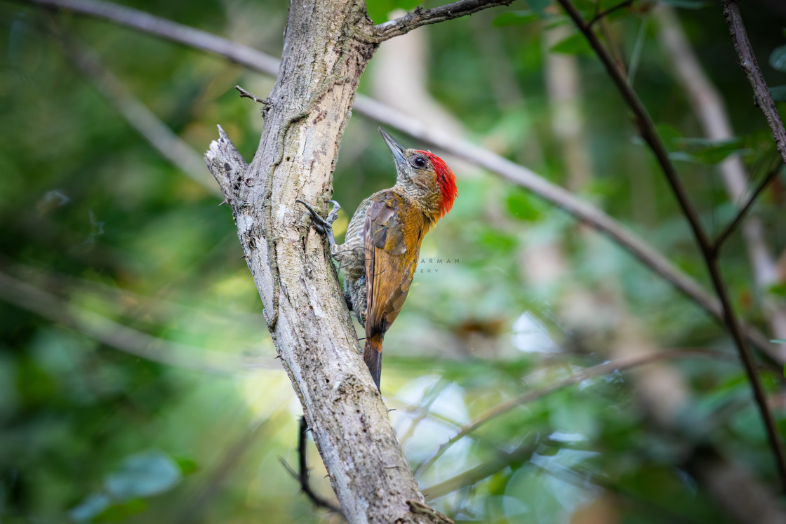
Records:
[[[376,49],[365,4],[296,0],[246,167],[220,130],[205,159],[233,210],[265,317],[350,522],[445,522],[425,506],[362,361],[325,242],[296,199],[326,208],[358,79]]]

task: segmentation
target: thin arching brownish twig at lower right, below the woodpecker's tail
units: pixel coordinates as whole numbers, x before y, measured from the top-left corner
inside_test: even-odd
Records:
[[[622,371],[623,369],[635,368],[641,365],[648,365],[659,361],[678,358],[717,358],[733,361],[737,360],[733,355],[722,354],[718,353],[717,351],[674,350],[636,357],[619,358],[614,361],[606,362],[605,364],[599,364],[592,366],[591,368],[582,369],[582,371],[576,373],[575,375],[571,375],[565,379],[551,383],[548,386],[538,388],[537,390],[527,391],[527,393],[520,394],[518,397],[511,398],[509,401],[502,402],[501,404],[494,406],[494,408],[489,409],[487,412],[483,413],[483,415],[476,418],[476,420],[472,421],[472,423],[461,427],[461,431],[451,437],[450,440],[445,442],[443,445],[440,445],[439,449],[437,449],[436,453],[432,455],[431,458],[424,461],[415,469],[415,474],[419,474],[421,471],[424,471],[426,468],[434,464],[435,461],[439,459],[439,457],[442,456],[451,445],[454,445],[462,438],[465,438],[468,434],[472,433],[472,431],[475,431],[479,427],[483,426],[483,424],[497,418],[498,416],[504,415],[505,413],[520,405],[536,401],[538,398],[545,397],[545,395],[551,394],[557,390],[561,390],[564,387],[583,382],[587,379],[593,379],[597,376],[608,375],[608,373]]]

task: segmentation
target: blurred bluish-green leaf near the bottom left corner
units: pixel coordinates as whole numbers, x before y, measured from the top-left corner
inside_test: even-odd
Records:
[[[181,478],[174,460],[166,453],[152,450],[129,456],[118,471],[108,476],[105,485],[112,496],[127,500],[163,493]]]

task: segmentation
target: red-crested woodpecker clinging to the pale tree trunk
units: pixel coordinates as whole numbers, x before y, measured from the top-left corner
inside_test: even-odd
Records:
[[[297,200],[310,212],[314,229],[327,236],[330,253],[346,276],[344,299],[365,328],[363,358],[377,389],[382,339],[410,291],[423,237],[458,196],[456,177],[443,159],[430,151],[402,148],[381,127],[380,134],[395,160],[395,185],[360,203],[343,244],[336,244],[332,231],[341,208],[335,200],[329,200],[333,208],[327,218]]]

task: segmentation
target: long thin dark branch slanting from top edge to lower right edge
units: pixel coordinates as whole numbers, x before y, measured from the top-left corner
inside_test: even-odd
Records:
[[[626,103],[634,112],[639,133],[647,145],[652,149],[653,154],[656,156],[656,159],[663,170],[663,174],[666,176],[671,190],[674,192],[674,196],[680,205],[682,214],[685,214],[685,218],[689,222],[693,236],[696,238],[696,244],[699,245],[701,255],[707,266],[707,271],[710,273],[715,293],[718,295],[718,299],[721,302],[724,324],[728,328],[729,334],[732,335],[737,351],[740,354],[740,360],[743,362],[748,380],[751,383],[751,389],[753,390],[756,405],[758,406],[758,410],[762,415],[762,420],[766,427],[769,445],[773,450],[773,455],[775,456],[778,475],[780,475],[780,480],[783,485],[782,487],[786,489],[786,455],[784,455],[784,449],[780,442],[775,420],[772,413],[769,411],[769,406],[767,405],[764,388],[762,387],[761,380],[758,378],[753,355],[745,344],[740,329],[740,324],[737,321],[731,300],[729,299],[729,292],[725,288],[725,282],[723,281],[720,267],[718,266],[718,253],[717,251],[714,251],[710,240],[707,238],[707,233],[704,232],[699,215],[690,202],[688,193],[685,191],[685,187],[682,185],[682,182],[677,174],[677,170],[674,169],[674,164],[672,164],[671,160],[669,159],[666,147],[663,145],[663,141],[660,140],[660,137],[658,136],[658,133],[655,129],[655,124],[652,123],[652,119],[644,107],[644,104],[641,103],[637,97],[637,94],[628,84],[625,76],[621,71],[619,71],[619,68],[617,68],[614,60],[608,53],[608,50],[603,46],[603,44],[601,44],[601,41],[597,38],[595,33],[593,33],[592,29],[587,26],[581,14],[578,13],[578,9],[576,9],[571,0],[557,0],[557,2],[560,2],[560,5],[563,6],[567,12],[567,15],[571,17],[571,20],[573,20],[579,31],[582,31],[589,42],[589,45],[592,46],[597,56],[601,59],[601,62],[604,64],[609,76],[612,77],[612,80],[615,82],[619,92],[623,95]],[[729,2],[727,1],[726,3],[728,4]],[[739,15],[739,9],[737,9],[736,13]],[[764,88],[766,89],[766,84],[764,85]],[[770,101],[772,101],[772,98],[770,98]],[[780,122],[780,119],[778,119],[778,122]],[[780,129],[783,129],[782,123],[780,125]],[[786,133],[784,133],[784,137],[786,137]],[[776,141],[778,141],[778,137],[776,137]],[[786,146],[786,141],[784,141],[782,144],[779,144],[779,149],[781,145]],[[786,149],[784,149],[784,152],[786,152]],[[784,158],[786,158],[786,155],[784,155]]]

